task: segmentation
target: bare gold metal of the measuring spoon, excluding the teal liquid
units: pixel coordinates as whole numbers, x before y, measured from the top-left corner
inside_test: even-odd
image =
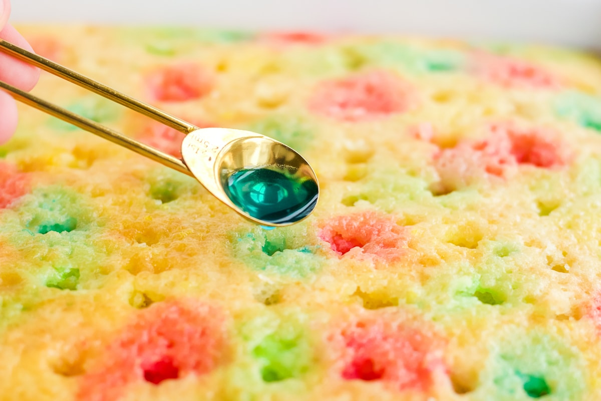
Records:
[[[224,191],[224,180],[230,174],[242,168],[264,166],[277,166],[283,170],[287,170],[291,174],[296,174],[297,177],[311,179],[317,185],[317,177],[311,166],[290,147],[255,132],[227,128],[199,129],[193,124],[180,120],[180,118],[133,99],[126,94],[115,91],[99,82],[93,81],[93,79],[87,78],[84,75],[14,46],[14,44],[4,40],[0,40],[0,51],[25,61],[25,63],[40,67],[40,69],[52,73],[59,78],[66,79],[73,84],[84,87],[100,96],[113,100],[120,105],[187,134],[182,142],[182,159],[174,158],[171,155],[160,152],[160,150],[102,126],[102,124],[96,123],[96,121],[81,117],[0,81],[0,89],[10,93],[14,99],[60,118],[83,130],[108,139],[115,144],[126,147],[166,167],[195,177],[216,198],[227,204],[227,206],[230,206],[243,217],[258,224],[278,227],[301,221],[299,219],[298,221],[279,224],[256,219],[236,206]]]

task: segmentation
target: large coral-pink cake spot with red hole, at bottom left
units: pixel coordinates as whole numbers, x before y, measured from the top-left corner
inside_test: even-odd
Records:
[[[78,399],[114,400],[136,381],[210,372],[224,348],[221,322],[215,308],[194,302],[152,305],[109,344],[102,366],[83,376]]]

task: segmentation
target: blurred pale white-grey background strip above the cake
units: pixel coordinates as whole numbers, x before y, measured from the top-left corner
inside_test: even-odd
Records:
[[[601,49],[601,0],[12,0],[16,22],[402,32]]]

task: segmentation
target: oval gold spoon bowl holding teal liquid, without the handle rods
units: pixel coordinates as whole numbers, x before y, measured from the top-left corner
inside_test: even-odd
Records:
[[[269,227],[291,225],[316,207],[319,184],[299,153],[255,132],[204,128],[182,142],[196,179],[243,217]]]

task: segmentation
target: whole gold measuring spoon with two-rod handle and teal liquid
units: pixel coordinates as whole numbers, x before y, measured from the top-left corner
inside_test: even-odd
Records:
[[[0,51],[185,133],[180,160],[0,81],[0,89],[20,102],[195,177],[251,221],[269,227],[291,225],[310,215],[317,204],[319,184],[313,169],[275,139],[237,129],[200,129],[7,41],[0,40]]]

